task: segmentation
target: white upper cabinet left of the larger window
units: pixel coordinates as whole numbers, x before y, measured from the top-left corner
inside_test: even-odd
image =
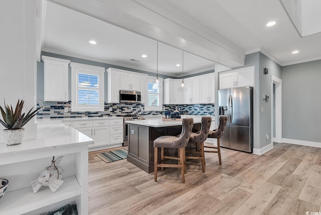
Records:
[[[45,63],[44,100],[69,101],[68,64],[69,60],[42,56]]]

